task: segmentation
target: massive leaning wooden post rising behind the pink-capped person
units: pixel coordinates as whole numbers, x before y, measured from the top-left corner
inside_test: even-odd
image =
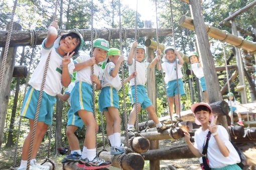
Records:
[[[203,71],[205,76],[205,82],[207,87],[207,92],[209,95],[209,102],[215,102],[222,100],[220,93],[219,81],[217,73],[214,66],[213,57],[210,50],[209,38],[206,32],[206,27],[204,23],[202,8],[199,0],[189,0],[191,15],[194,19],[194,27],[196,32],[196,42],[197,49],[199,52],[200,60],[203,65]],[[227,131],[227,119],[226,116],[221,116],[218,118],[220,124],[222,124]]]

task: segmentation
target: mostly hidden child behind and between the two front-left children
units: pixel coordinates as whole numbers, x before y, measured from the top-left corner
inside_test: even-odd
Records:
[[[64,94],[57,94],[57,97],[59,97],[62,101],[68,100],[70,105],[70,109],[68,110],[68,122],[67,122],[66,135],[68,138],[68,144],[69,144],[71,153],[64,157],[64,160],[62,161],[62,163],[69,162],[69,161],[79,161],[79,158],[81,157],[81,154],[82,154],[80,145],[79,145],[79,140],[75,135],[75,131],[78,128],[81,129],[84,123],[83,123],[83,120],[78,115],[74,114],[74,111],[70,103],[70,93],[75,86],[75,83],[74,83],[75,75],[76,75],[76,72],[73,73],[72,82],[68,85],[68,88],[67,90],[65,90]]]

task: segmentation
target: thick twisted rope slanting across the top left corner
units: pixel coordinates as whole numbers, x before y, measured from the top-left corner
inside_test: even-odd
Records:
[[[10,21],[10,24],[9,24],[7,40],[6,40],[6,45],[5,45],[5,52],[4,52],[4,56],[3,56],[3,60],[2,60],[2,64],[1,64],[0,90],[2,89],[2,83],[3,83],[3,80],[4,80],[3,79],[4,78],[4,71],[6,69],[7,54],[8,54],[8,49],[9,49],[10,41],[11,41],[11,35],[12,35],[12,32],[13,32],[14,15],[15,15],[15,10],[16,10],[16,6],[17,6],[17,2],[18,2],[18,0],[14,1],[13,12],[12,12],[11,21]]]

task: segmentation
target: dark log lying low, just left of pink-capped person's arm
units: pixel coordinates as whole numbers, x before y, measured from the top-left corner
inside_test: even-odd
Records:
[[[172,160],[196,157],[187,144],[149,150],[142,153],[145,160]]]

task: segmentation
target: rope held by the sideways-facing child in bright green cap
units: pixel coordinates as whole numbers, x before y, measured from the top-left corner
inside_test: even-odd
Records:
[[[123,47],[122,47],[122,25],[121,25],[121,2],[118,0],[118,15],[119,15],[119,39],[120,39],[120,55],[123,55]],[[121,83],[122,83],[122,100],[123,100],[123,115],[124,115],[124,127],[125,127],[125,139],[126,143],[129,146],[129,136],[128,136],[128,129],[127,129],[127,106],[126,106],[126,92],[125,92],[125,84],[124,81],[124,62],[121,64]],[[130,147],[130,146],[129,146]]]

